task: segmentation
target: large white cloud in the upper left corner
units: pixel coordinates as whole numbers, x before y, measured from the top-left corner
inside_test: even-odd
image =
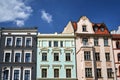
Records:
[[[24,21],[30,16],[32,8],[26,6],[22,0],[0,0],[0,22],[13,21],[16,24]]]

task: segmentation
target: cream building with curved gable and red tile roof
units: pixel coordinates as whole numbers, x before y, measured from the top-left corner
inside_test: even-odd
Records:
[[[63,33],[75,33],[78,80],[116,80],[112,37],[104,23],[86,16],[69,22]]]

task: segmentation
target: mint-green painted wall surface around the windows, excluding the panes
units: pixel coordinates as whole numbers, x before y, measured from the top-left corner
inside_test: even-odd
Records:
[[[49,34],[47,34],[49,35]],[[38,45],[37,45],[37,79],[41,78],[41,69],[47,68],[47,78],[54,78],[54,68],[59,68],[59,78],[66,78],[66,68],[71,69],[71,79],[76,79],[76,54],[75,54],[75,43],[74,43],[74,37],[72,38],[65,38],[62,37],[56,37],[58,35],[53,35],[52,38],[45,36],[43,38],[39,37],[38,35]],[[64,35],[63,35],[64,36]],[[72,35],[73,36],[73,35]],[[44,42],[46,41],[46,42]],[[52,47],[48,47],[48,41],[52,41]],[[56,47],[58,50],[54,50],[55,47],[53,47],[53,41],[63,41],[63,47]],[[44,44],[43,44],[44,42]],[[42,51],[42,49],[46,49]],[[66,51],[65,49],[70,49]],[[54,51],[53,51],[54,50]],[[42,61],[42,52],[47,52],[47,61]],[[59,53],[59,61],[54,61],[54,52]],[[65,53],[70,52],[71,53],[71,61],[65,61]],[[45,67],[45,65],[47,67]]]

